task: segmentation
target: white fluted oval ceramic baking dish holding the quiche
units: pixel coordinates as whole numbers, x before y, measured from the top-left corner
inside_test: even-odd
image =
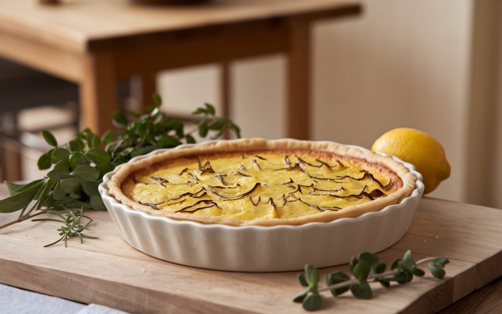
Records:
[[[135,157],[131,162],[163,151],[166,150]],[[152,216],[118,203],[108,195],[106,182],[120,166],[104,176],[99,192],[122,238],[137,250],[162,260],[229,271],[300,270],[306,263],[327,267],[347,263],[363,251],[382,251],[398,242],[408,230],[424,184],[413,165],[394,158],[417,175],[415,189],[409,197],[379,212],[328,223],[235,227]]]

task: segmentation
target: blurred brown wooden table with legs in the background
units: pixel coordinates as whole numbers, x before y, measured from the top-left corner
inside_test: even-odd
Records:
[[[172,7],[0,0],[0,56],[78,84],[82,126],[102,133],[119,108],[119,81],[139,78],[146,103],[156,90],[158,71],[219,62],[223,116],[228,117],[228,62],[285,52],[286,133],[307,139],[311,24],[359,12],[357,0],[232,0]]]

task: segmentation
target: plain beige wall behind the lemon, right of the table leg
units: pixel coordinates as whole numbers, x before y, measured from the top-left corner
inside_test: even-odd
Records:
[[[443,143],[452,166],[431,196],[464,200],[470,1],[364,8],[360,19],[314,32],[314,139],[370,147],[393,128],[424,130]],[[352,119],[337,119],[347,113]]]

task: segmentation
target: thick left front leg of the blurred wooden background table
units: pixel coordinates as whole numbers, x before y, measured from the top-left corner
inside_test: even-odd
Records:
[[[112,128],[111,114],[119,110],[117,78],[113,58],[108,53],[89,53],[83,57],[84,75],[80,82],[82,129],[103,134]]]

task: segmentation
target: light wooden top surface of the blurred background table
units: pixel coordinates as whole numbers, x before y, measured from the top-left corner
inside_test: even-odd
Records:
[[[187,6],[140,5],[132,0],[73,0],[40,5],[0,0],[0,32],[49,44],[89,41],[354,7],[359,0],[213,0]]]

